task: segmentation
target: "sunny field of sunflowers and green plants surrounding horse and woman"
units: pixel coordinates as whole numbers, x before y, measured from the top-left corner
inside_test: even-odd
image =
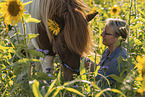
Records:
[[[83,0],[90,12],[99,14],[89,22],[94,54],[88,57],[99,63],[106,46],[101,33],[108,18],[118,18],[127,23],[128,37],[123,46],[127,59],[118,57],[126,76],[111,75],[117,82],[97,80],[94,72],[84,67],[81,60],[80,75],[65,82],[58,56],[54,60],[54,72],[50,75],[35,69],[44,57],[43,53],[28,49],[31,39],[38,34],[27,34],[26,24],[39,23],[26,13],[29,2],[0,0],[0,96],[1,97],[144,97],[145,96],[145,0]],[[22,27],[19,27],[21,22]],[[102,87],[106,85],[107,87]],[[112,88],[113,87],[113,88]]]

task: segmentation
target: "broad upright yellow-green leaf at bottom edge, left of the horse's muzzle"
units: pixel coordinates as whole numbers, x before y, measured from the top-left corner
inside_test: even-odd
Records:
[[[34,83],[32,84],[32,90],[33,90],[35,97],[42,97],[42,95],[39,91],[39,82],[37,80],[34,80]]]

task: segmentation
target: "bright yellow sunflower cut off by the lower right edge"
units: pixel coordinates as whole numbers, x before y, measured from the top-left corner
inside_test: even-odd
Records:
[[[143,92],[145,91],[145,56],[142,58],[140,56],[137,56],[136,60],[138,61],[137,64],[135,64],[135,68],[138,68],[139,76],[136,78],[136,81],[142,81],[142,86],[138,89],[138,92],[143,95]]]

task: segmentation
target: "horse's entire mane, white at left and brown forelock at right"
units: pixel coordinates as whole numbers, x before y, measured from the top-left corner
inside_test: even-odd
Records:
[[[55,20],[56,16],[63,18],[64,24],[61,32],[64,33],[67,47],[71,51],[82,55],[90,51],[91,45],[91,34],[85,17],[85,7],[81,0],[34,0],[30,11],[32,17],[37,16],[37,19],[42,20],[50,42],[53,41],[54,36],[49,32],[48,18],[54,21],[57,21]],[[58,24],[61,24],[61,22]],[[32,27],[35,27],[33,31],[37,32],[36,25]]]

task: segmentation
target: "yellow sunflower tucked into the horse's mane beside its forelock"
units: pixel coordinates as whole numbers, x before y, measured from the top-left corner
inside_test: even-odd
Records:
[[[58,33],[60,32],[60,28],[56,22],[52,21],[51,19],[48,19],[47,25],[49,30],[52,31],[54,35],[58,35]]]

